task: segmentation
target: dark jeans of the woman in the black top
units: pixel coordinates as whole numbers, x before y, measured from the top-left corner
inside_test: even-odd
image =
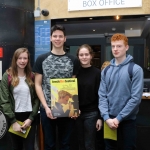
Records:
[[[81,115],[77,118],[76,125],[80,150],[95,150],[97,119],[97,111],[81,112]]]

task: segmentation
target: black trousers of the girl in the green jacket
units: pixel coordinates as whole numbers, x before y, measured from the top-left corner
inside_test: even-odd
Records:
[[[24,121],[28,118],[30,113],[15,113],[16,119],[19,121]],[[10,133],[13,150],[34,150],[36,123],[35,121],[31,124],[31,129],[27,138],[22,138],[18,135]]]

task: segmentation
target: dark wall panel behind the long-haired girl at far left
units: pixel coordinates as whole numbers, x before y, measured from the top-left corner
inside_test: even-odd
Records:
[[[34,61],[34,0],[0,0],[0,47],[4,49],[2,72],[11,63],[14,51],[27,47]]]

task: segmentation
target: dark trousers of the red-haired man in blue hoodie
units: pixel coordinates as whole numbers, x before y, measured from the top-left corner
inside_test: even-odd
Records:
[[[136,120],[122,121],[117,129],[117,141],[105,139],[106,150],[135,150],[136,137]]]

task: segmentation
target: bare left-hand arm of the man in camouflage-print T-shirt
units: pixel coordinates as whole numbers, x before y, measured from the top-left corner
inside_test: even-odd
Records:
[[[52,116],[52,112],[46,103],[46,99],[44,97],[44,93],[42,90],[42,74],[39,74],[39,73],[35,74],[35,89],[36,89],[36,93],[45,109],[47,117],[54,119]]]

